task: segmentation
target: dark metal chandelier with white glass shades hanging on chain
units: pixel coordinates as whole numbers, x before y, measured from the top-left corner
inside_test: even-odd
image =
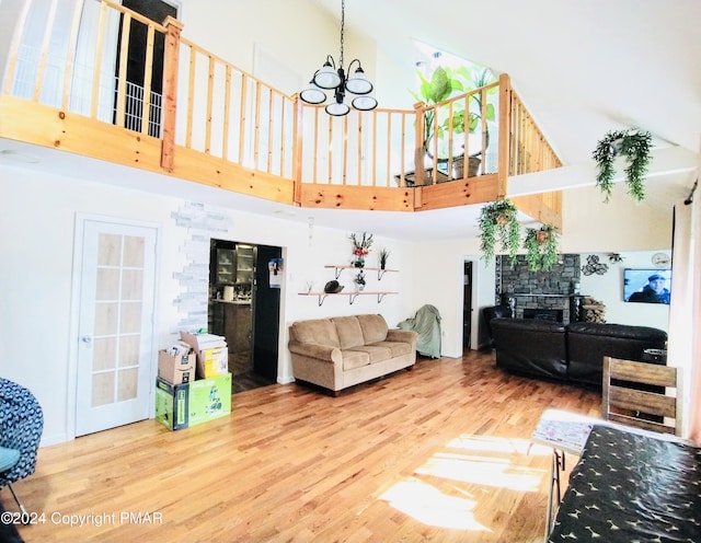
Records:
[[[326,55],[326,60],[321,69],[314,72],[314,76],[309,82],[309,86],[304,89],[299,97],[308,104],[323,104],[326,101],[326,91],[333,90],[334,101],[331,102],[325,111],[329,115],[340,117],[347,115],[350,111],[347,104],[344,103],[346,91],[356,96],[350,101],[350,105],[354,108],[361,112],[369,112],[377,107],[377,100],[370,95],[372,92],[372,83],[368,80],[363,71],[360,61],[356,58],[348,65],[348,74],[352,72],[352,68],[357,63],[355,72],[346,77],[346,72],[343,68],[343,32],[345,26],[345,0],[341,1],[341,55],[338,57],[338,67],[333,60],[331,55]]]

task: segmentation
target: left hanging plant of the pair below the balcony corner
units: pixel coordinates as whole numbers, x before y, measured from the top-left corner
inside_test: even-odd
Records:
[[[480,251],[487,263],[494,258],[496,242],[502,251],[508,253],[512,263],[521,243],[521,230],[518,223],[518,209],[507,198],[487,204],[480,211]]]

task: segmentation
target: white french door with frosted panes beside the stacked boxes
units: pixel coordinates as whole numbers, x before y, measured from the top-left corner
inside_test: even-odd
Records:
[[[149,416],[158,229],[85,218],[78,231],[76,436],[83,436]]]

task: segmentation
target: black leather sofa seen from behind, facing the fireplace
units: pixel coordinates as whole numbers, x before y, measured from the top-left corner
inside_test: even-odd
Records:
[[[665,331],[648,326],[507,317],[490,324],[497,367],[594,388],[601,388],[605,356],[640,361],[667,342]]]

